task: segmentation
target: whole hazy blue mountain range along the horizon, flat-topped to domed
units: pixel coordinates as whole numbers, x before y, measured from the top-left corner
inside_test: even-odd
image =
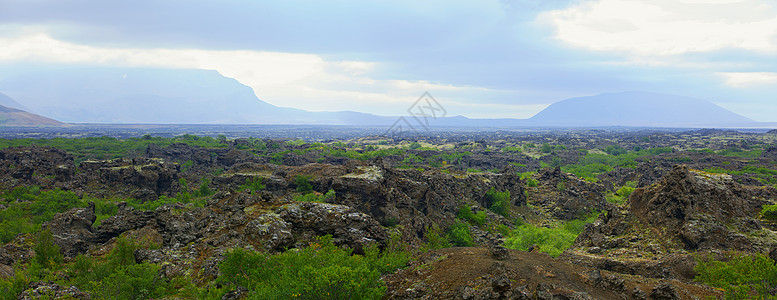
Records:
[[[417,119],[277,107],[216,71],[160,68],[4,70],[0,105],[69,123],[379,125]],[[259,91],[261,92],[261,91]],[[22,106],[23,103],[29,109]],[[444,101],[443,101],[444,103]],[[428,120],[454,127],[748,127],[758,124],[711,102],[659,93],[623,92],[554,103],[530,119]],[[755,125],[757,126],[757,125]]]

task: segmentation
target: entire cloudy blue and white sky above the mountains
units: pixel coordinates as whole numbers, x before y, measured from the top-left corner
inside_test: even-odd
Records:
[[[774,0],[0,0],[0,68],[216,70],[270,104],[528,118],[650,91],[777,121]],[[0,78],[1,80],[1,78]]]

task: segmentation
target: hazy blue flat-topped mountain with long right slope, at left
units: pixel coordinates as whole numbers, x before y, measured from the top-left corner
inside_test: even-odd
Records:
[[[216,71],[60,68],[6,74],[0,90],[30,111],[71,123],[362,124],[370,114],[273,106]],[[376,121],[388,123],[390,121]]]

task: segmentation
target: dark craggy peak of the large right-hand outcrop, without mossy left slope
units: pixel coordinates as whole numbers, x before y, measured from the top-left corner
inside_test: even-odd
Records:
[[[746,187],[726,174],[690,171],[675,166],[660,183],[634,191],[631,213],[643,224],[663,228],[689,250],[753,250],[752,243],[725,225],[757,225],[757,216],[777,192],[771,187]]]

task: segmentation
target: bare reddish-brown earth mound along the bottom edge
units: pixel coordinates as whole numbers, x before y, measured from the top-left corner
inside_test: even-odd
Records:
[[[448,248],[384,277],[387,299],[704,299],[719,290],[586,268],[544,253]]]

